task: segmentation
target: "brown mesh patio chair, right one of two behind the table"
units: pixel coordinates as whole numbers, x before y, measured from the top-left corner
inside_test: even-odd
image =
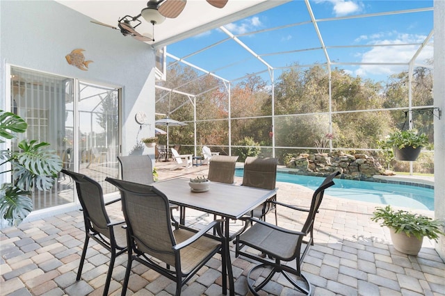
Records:
[[[244,162],[243,186],[250,186],[263,189],[275,189],[277,180],[277,158],[257,158],[248,156]],[[270,197],[276,200],[277,196]],[[275,204],[265,202],[261,206],[254,208],[253,217],[266,221],[266,214],[275,210]],[[278,224],[277,211],[275,211],[275,224]]]

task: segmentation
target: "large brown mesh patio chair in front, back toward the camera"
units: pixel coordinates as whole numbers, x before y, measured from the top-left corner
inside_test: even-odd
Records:
[[[227,241],[221,229],[224,220],[213,221],[199,232],[180,224],[175,224],[172,229],[168,198],[163,192],[152,186],[109,177],[106,181],[120,189],[122,211],[127,222],[129,250],[122,295],[127,292],[133,261],[175,281],[175,295],[181,295],[181,287],[218,252],[222,256],[223,276],[229,270],[232,277]],[[218,236],[207,236],[211,229],[216,229]],[[162,263],[166,264],[165,268]]]

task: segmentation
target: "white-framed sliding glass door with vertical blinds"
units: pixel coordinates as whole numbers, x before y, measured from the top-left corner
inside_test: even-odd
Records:
[[[76,79],[11,68],[11,111],[26,120],[26,133],[13,140],[49,142],[63,167],[87,174],[104,187],[106,176],[118,176],[120,90]],[[75,202],[74,183],[59,174],[49,192],[33,192],[34,211]]]

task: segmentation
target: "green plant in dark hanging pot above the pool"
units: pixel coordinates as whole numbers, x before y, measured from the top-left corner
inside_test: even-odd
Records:
[[[421,147],[428,145],[425,133],[418,133],[415,129],[394,131],[385,140],[386,147],[392,147],[394,157],[398,161],[415,161],[420,154]]]

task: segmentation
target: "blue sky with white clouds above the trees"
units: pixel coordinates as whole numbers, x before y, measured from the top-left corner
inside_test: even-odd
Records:
[[[225,25],[227,31],[263,62],[228,38],[220,28],[170,44],[167,51],[229,81],[261,71],[264,72],[261,76],[270,79],[267,65],[277,69],[277,79],[289,65],[326,63],[327,58],[339,63],[332,67],[344,69],[353,76],[387,81],[389,75],[407,71],[407,63],[433,27],[433,3],[429,0],[310,0],[309,6],[318,21],[327,56],[302,0]],[[424,11],[389,13],[418,8]],[[386,15],[375,15],[377,13]],[[416,58],[415,66],[428,65],[428,60],[432,60],[432,41],[433,37]]]

